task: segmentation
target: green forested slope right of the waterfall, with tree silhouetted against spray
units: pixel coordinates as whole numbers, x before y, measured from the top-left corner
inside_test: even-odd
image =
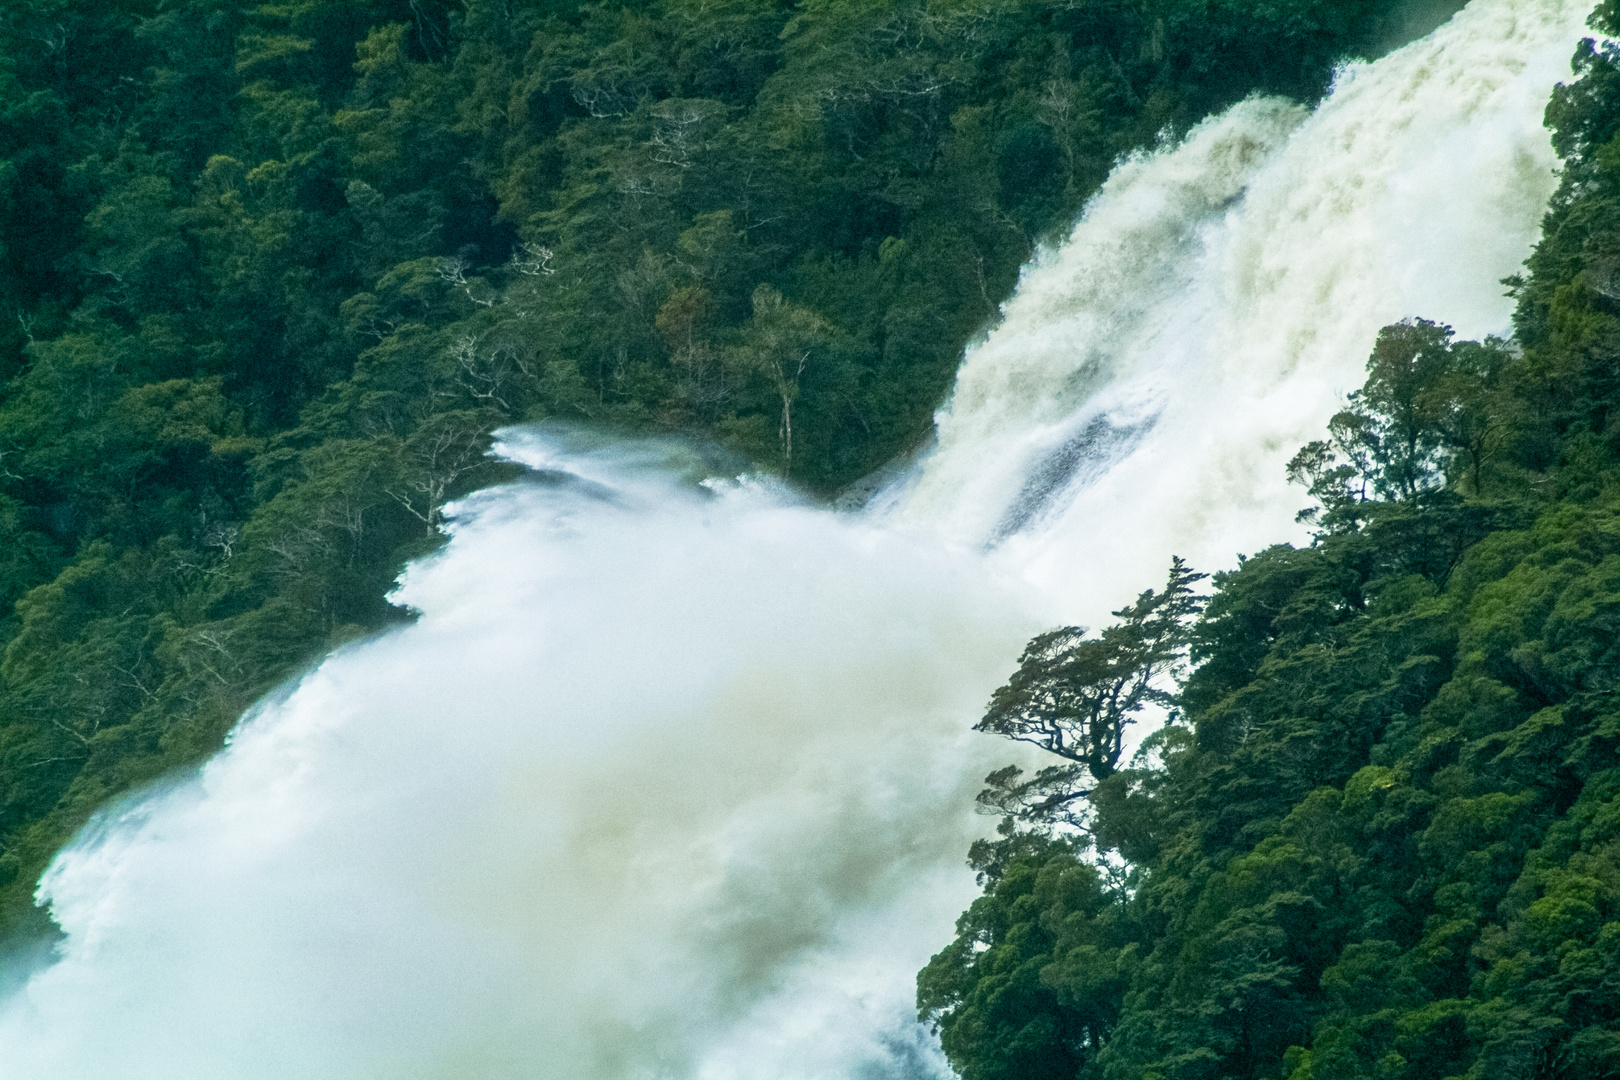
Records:
[[[1309,547],[1176,563],[990,703],[1051,764],[988,779],[919,978],[966,1080],[1620,1077],[1620,47],[1576,76],[1515,340],[1385,329],[1293,461]]]

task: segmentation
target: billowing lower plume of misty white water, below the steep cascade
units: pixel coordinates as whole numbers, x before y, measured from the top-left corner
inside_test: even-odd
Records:
[[[889,918],[936,936],[966,899],[962,717],[1030,628],[1011,588],[658,447],[502,450],[539,473],[410,568],[420,622],[57,861],[66,950],[0,1022],[0,1074],[893,1056],[915,957]]]

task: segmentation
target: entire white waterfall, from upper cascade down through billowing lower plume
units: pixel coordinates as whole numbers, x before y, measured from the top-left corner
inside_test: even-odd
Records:
[[[535,474],[410,568],[416,623],[58,857],[0,1074],[940,1072],[910,980],[974,892],[985,696],[1171,552],[1286,536],[1281,461],[1379,325],[1505,329],[1583,8],[1474,0],[1314,115],[1124,164],[865,515],[512,432]]]

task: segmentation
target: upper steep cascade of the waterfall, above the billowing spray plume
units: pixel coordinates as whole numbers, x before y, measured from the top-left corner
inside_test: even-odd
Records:
[[[1299,539],[1283,466],[1379,327],[1510,330],[1500,279],[1555,186],[1542,112],[1589,8],[1476,0],[1315,113],[1249,100],[1124,164],[969,353],[904,513],[1001,542],[1089,619],[1171,554]]]

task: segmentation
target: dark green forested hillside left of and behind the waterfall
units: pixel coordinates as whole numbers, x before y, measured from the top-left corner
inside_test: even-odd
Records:
[[[1413,18],[5,0],[0,929],[47,928],[91,811],[408,617],[496,427],[688,432],[836,492],[927,436],[1119,155]]]

